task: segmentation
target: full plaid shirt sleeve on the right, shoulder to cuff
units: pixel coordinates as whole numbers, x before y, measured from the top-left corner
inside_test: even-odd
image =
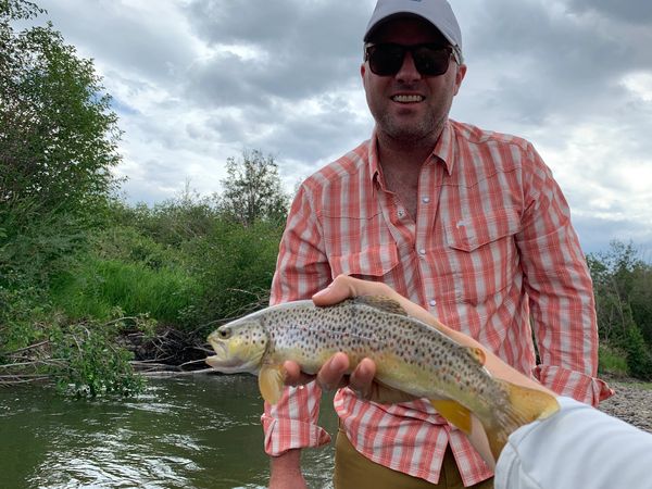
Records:
[[[525,212],[516,241],[541,362],[534,374],[556,393],[597,405],[613,390],[597,378],[591,276],[550,168],[531,146],[526,161]]]

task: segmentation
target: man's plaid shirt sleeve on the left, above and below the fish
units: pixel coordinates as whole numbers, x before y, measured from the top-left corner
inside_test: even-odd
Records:
[[[322,233],[310,192],[301,187],[288,215],[281,238],[271,304],[310,299],[331,280],[330,267],[322,250]],[[262,415],[264,447],[277,456],[290,449],[319,447],[330,441],[317,425],[322,390],[316,383],[303,388],[286,388],[275,405],[265,403]]]

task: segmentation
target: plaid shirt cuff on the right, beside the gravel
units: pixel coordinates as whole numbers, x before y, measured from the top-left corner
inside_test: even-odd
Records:
[[[614,394],[614,390],[604,380],[581,372],[560,366],[537,365],[534,374],[543,386],[553,392],[592,406],[597,406],[601,401]]]

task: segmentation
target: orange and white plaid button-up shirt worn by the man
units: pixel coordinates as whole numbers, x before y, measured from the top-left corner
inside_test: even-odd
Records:
[[[417,215],[385,186],[375,135],[308,178],[280,243],[272,303],[310,298],[337,275],[388,284],[552,390],[598,404],[591,279],[566,201],[532,146],[449,121],[418,179]],[[536,365],[530,315],[541,363]],[[265,405],[265,451],[317,447],[315,383]],[[439,480],[447,444],[466,486],[491,477],[426,400],[384,405],[340,389],[354,447],[387,467]]]

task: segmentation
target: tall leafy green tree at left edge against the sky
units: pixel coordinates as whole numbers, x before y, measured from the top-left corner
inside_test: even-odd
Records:
[[[117,117],[92,62],[51,23],[14,29],[42,12],[0,0],[0,204],[92,215],[115,184]]]

